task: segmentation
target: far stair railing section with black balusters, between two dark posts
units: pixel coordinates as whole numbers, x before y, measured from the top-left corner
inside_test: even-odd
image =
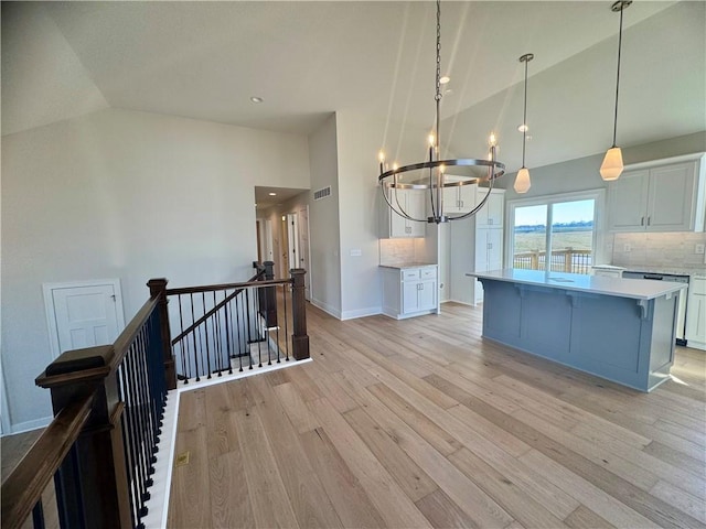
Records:
[[[171,341],[184,384],[309,357],[303,270],[275,280],[266,261],[250,281],[168,289]]]

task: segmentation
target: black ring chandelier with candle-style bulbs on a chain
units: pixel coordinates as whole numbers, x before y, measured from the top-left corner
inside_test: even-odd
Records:
[[[413,163],[410,165],[403,165],[393,169],[386,169],[385,155],[383,151],[379,152],[379,176],[377,179],[381,192],[387,205],[397,215],[414,220],[417,223],[441,224],[449,220],[460,220],[475,215],[490,198],[490,191],[493,188],[495,179],[505,174],[505,164],[495,160],[496,142],[494,134],[490,138],[490,155],[488,160],[461,158],[456,160],[439,160],[439,105],[441,102],[441,3],[437,0],[437,68],[436,68],[436,125],[435,132],[429,134],[429,160],[420,163]],[[468,177],[461,181],[447,181],[446,170],[451,166],[475,166],[485,168],[486,175],[484,177]],[[410,173],[414,171],[420,171],[422,176],[414,183],[403,183],[402,175],[404,173]],[[425,171],[428,171],[428,176],[425,176]],[[447,215],[443,213],[443,190],[462,185],[478,184],[481,180],[486,180],[489,183],[489,193],[470,212],[459,215]],[[431,215],[424,218],[415,218],[409,215],[402,206],[399,198],[397,197],[398,190],[428,190],[429,191],[429,206]]]

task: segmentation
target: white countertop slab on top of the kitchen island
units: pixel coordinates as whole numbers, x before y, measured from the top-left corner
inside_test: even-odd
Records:
[[[478,279],[506,281],[510,283],[614,295],[618,298],[632,298],[635,300],[653,300],[686,289],[687,287],[684,283],[646,279],[606,278],[602,276],[545,272],[542,270],[521,270],[515,268],[505,268],[503,270],[492,270],[489,272],[469,272],[466,276]]]

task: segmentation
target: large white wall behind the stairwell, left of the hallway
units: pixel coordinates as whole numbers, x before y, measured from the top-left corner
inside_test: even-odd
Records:
[[[255,185],[303,187],[304,137],[104,110],[2,138],[2,360],[15,429],[51,414],[42,283],[120,278],[126,321],[145,283],[247,279]]]

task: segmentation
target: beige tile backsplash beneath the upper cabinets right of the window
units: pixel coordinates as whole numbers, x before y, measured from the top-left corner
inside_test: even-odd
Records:
[[[665,272],[706,271],[704,253],[696,253],[697,245],[706,245],[706,234],[614,234],[612,264]]]

